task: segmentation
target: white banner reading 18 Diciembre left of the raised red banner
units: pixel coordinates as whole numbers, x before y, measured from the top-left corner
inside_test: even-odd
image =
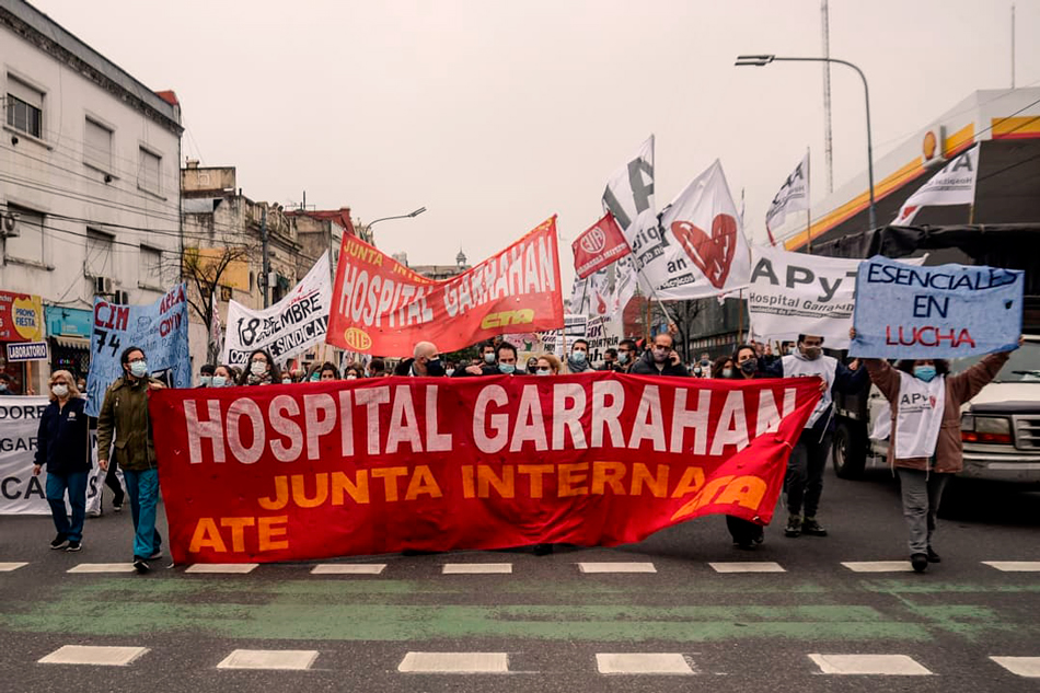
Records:
[[[228,303],[220,362],[242,366],[254,349],[266,349],[284,365],[325,338],[331,305],[332,272],[325,251],[296,288],[270,308],[254,311],[235,301]]]

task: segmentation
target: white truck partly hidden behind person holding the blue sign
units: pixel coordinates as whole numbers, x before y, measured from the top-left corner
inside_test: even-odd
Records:
[[[959,373],[978,357],[950,361]],[[870,386],[859,396],[835,397],[832,461],[842,478],[886,466],[888,402]],[[1027,335],[996,379],[961,411],[964,469],[959,476],[1040,487],[1040,335]]]

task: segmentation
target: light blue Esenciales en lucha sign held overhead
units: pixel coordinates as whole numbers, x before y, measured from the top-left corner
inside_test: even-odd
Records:
[[[1025,273],[969,265],[912,267],[871,257],[856,279],[856,338],[870,358],[957,358],[1007,351],[1021,334]]]

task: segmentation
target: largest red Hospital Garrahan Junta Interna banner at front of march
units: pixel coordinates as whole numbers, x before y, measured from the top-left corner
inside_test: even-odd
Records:
[[[390,378],[150,397],[176,563],[767,523],[819,380]]]

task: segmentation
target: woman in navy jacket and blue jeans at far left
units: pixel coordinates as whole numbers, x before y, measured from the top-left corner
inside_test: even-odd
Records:
[[[86,515],[86,475],[90,472],[90,428],[72,373],[55,371],[50,376],[50,405],[44,409],[36,434],[36,466],[39,475],[47,465],[47,503],[58,535],[50,542],[55,550],[79,551],[83,543]],[[68,493],[72,519],[65,511]]]

